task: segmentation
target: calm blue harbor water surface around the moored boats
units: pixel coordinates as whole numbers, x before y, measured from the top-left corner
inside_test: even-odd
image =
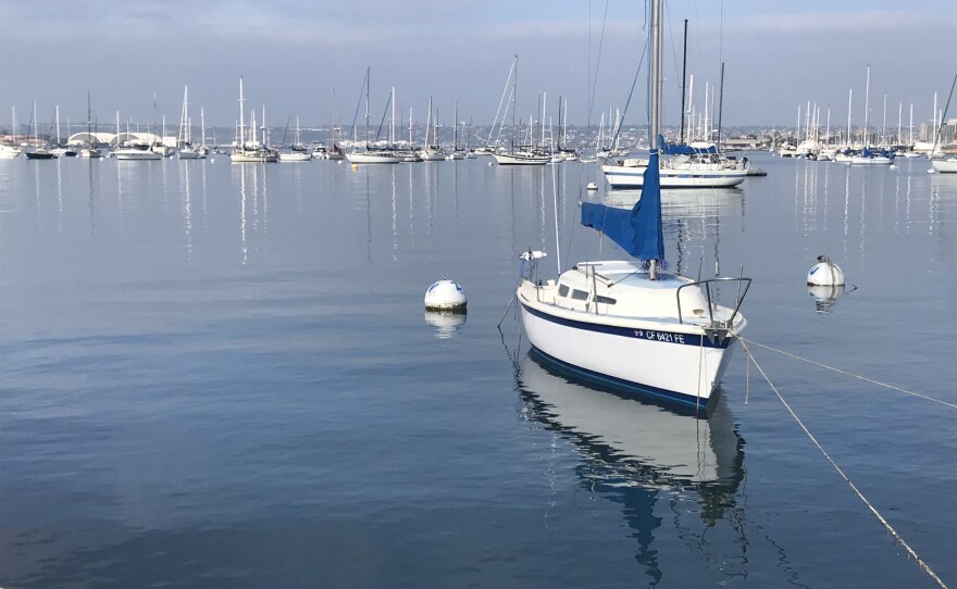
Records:
[[[664,195],[671,266],[744,264],[754,342],[957,403],[957,177],[751,159]],[[699,418],[529,353],[555,202],[562,265],[621,255],[576,226],[593,179],[0,161],[0,587],[935,587],[741,350]],[[443,276],[464,321],[423,312]],[[957,585],[957,410],[753,351]]]

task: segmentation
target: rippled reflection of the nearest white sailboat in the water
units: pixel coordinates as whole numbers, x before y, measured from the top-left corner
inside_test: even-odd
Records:
[[[575,468],[581,484],[622,506],[639,544],[635,560],[651,584],[666,569],[670,581],[703,574],[689,561],[710,569],[698,580],[746,574],[736,569],[747,562],[737,506],[744,440],[724,396],[695,413],[580,383],[533,349],[518,377],[524,417],[566,438],[586,463]],[[664,523],[674,529],[662,528]],[[666,554],[654,546],[656,538],[701,554]]]

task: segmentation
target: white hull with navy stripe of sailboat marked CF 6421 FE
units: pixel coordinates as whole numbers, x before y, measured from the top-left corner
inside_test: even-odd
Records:
[[[680,276],[670,279],[692,284]],[[684,294],[697,297],[700,291],[687,290],[682,300]],[[718,389],[734,342],[747,325],[741,314],[723,306],[714,316],[734,317],[724,337],[709,329],[707,312],[679,322],[612,315],[601,303],[599,313],[591,304],[570,309],[559,304],[558,285],[530,280],[522,281],[517,296],[530,343],[552,362],[616,388],[693,408],[704,408]],[[685,312],[693,316],[687,308]]]

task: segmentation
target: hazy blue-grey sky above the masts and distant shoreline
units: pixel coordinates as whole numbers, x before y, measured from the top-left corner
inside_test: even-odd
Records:
[[[644,1],[623,0],[0,0],[0,121],[10,106],[26,123],[36,100],[41,123],[95,117],[113,125],[179,118],[183,88],[199,124],[232,126],[238,78],[247,111],[266,105],[268,123],[327,123],[335,87],[339,118],[351,124],[365,67],[372,68],[377,124],[395,86],[399,117],[424,122],[428,97],[439,121],[490,123],[513,55],[519,55],[518,113],[527,120],[547,92],[559,95],[572,124],[597,123],[623,108],[646,42]],[[602,18],[607,7],[604,39]],[[957,0],[673,0],[666,4],[666,123],[680,111],[683,20],[688,72],[703,108],[705,83],[725,64],[723,122],[794,125],[807,101],[828,104],[831,123],[863,122],[871,66],[870,123],[931,118],[957,73]],[[598,59],[600,41],[600,60]],[[588,113],[589,63],[594,108]],[[646,60],[647,63],[647,60]],[[596,76],[597,73],[597,76]],[[627,121],[644,124],[646,64]],[[153,114],[153,96],[157,106]],[[957,108],[955,108],[957,109]],[[952,111],[952,116],[954,113]],[[362,110],[360,109],[360,124]],[[170,133],[173,133],[170,130]]]

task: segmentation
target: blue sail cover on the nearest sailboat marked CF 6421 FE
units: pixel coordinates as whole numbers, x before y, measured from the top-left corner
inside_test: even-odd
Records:
[[[583,202],[582,225],[604,233],[634,258],[664,260],[658,150],[651,150],[642,186],[642,198],[631,210]]]

